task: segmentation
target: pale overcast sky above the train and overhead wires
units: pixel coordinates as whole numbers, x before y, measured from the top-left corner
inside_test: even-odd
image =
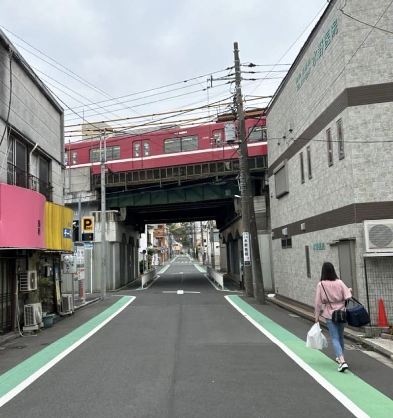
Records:
[[[233,65],[234,41],[242,63],[258,64],[242,67],[259,71],[243,74],[243,94],[254,99],[245,106],[265,105],[269,99],[257,97],[274,93],[289,68],[282,64],[293,62],[326,5],[326,0],[2,0],[0,27],[61,99],[66,125],[81,123],[82,117],[139,118],[111,122],[129,126],[157,119],[146,117],[153,113],[226,103],[233,84],[218,79]],[[212,87],[206,90],[210,75]],[[172,120],[214,116],[225,106],[174,114]]]

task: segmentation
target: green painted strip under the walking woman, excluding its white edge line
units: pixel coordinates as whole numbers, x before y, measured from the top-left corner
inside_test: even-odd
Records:
[[[276,324],[273,320],[257,311],[255,308],[253,308],[239,296],[226,296],[225,298],[228,299],[228,301],[230,301],[232,305],[234,305],[235,307],[237,306],[237,308],[243,311],[244,314],[250,317],[255,323],[259,324],[262,328],[268,331],[268,333],[270,333],[273,337],[279,340],[298,358],[300,358],[307,365],[309,365],[316,372],[316,374],[320,375],[323,379],[329,382],[341,394],[343,394],[346,398],[352,401],[361,411],[367,414],[356,414],[354,411],[351,411],[356,417],[393,417],[392,399],[388,398],[386,395],[384,395],[377,389],[368,385],[364,380],[360,379],[349,370],[345,371],[344,373],[339,373],[337,371],[337,366],[332,364],[331,358],[327,357],[323,352],[319,350],[307,348],[306,342],[304,340],[300,339],[296,335],[289,332],[287,329],[282,328],[280,325]],[[261,331],[263,332],[262,329]],[[269,337],[267,333],[265,333],[265,335]],[[283,349],[282,347],[280,348]],[[305,367],[303,368],[306,369]],[[312,374],[311,376],[314,379],[315,377],[318,377],[316,375],[313,376]],[[323,381],[323,379],[321,380]],[[318,381],[318,379],[315,380]],[[324,385],[322,384],[322,386]],[[338,394],[337,399],[339,399],[339,397],[340,396]],[[341,403],[344,404],[344,402]],[[346,405],[344,404],[344,406]]]

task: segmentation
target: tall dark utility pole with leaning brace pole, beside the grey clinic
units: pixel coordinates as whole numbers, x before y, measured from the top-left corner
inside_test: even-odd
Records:
[[[243,260],[244,260],[244,285],[246,293],[253,296],[253,270],[255,274],[256,298],[264,304],[265,291],[263,287],[262,267],[259,256],[258,232],[255,222],[255,210],[253,200],[252,182],[250,179],[249,152],[246,141],[246,128],[244,123],[243,96],[241,88],[241,69],[239,48],[237,42],[233,43],[235,57],[235,86],[239,133],[239,171],[240,194],[242,202],[242,229],[243,229]],[[248,241],[248,242],[246,242]],[[251,252],[249,243],[251,243]],[[249,254],[246,254],[249,252]],[[250,257],[251,254],[251,257]],[[253,268],[251,266],[253,263]]]

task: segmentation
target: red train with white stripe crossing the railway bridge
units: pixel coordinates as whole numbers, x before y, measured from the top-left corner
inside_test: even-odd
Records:
[[[245,125],[249,156],[267,155],[265,117],[246,119]],[[107,138],[106,167],[124,172],[238,158],[233,127],[233,122],[217,122]],[[65,164],[100,173],[99,138],[67,144]]]

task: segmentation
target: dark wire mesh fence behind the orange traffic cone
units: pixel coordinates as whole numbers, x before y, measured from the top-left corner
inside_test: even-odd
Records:
[[[393,325],[393,257],[365,257],[367,308],[371,326],[378,326],[380,300],[389,325]]]

